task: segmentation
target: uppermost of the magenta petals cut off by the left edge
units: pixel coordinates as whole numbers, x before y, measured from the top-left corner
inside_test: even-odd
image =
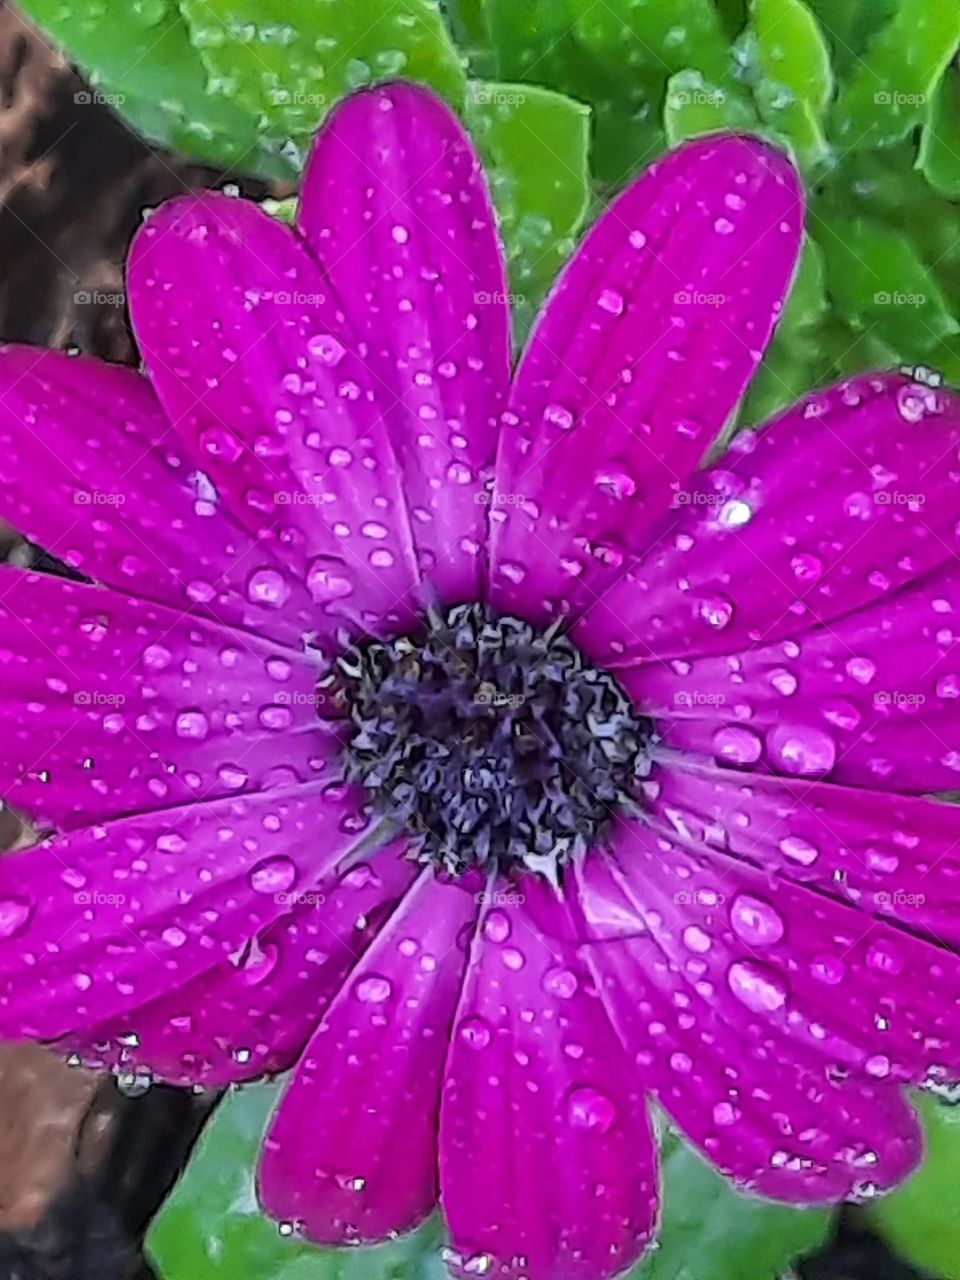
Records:
[[[251,567],[270,558],[178,452],[140,374],[5,347],[0,433],[3,515],[27,538],[123,591],[300,640],[306,590],[292,588],[283,613],[247,594]]]

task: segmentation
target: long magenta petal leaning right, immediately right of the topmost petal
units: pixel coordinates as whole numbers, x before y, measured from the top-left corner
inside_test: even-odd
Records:
[[[763,355],[801,206],[785,156],[719,136],[658,160],[600,218],[511,397],[497,461],[498,608],[582,607],[643,548]]]

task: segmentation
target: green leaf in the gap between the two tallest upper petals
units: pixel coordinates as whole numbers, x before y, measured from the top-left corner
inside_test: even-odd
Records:
[[[590,111],[530,84],[472,82],[466,124],[483,152],[500,216],[522,338],[570,256],[590,202]]]

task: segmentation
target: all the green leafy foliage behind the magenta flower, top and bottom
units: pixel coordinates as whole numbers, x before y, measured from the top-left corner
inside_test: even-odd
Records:
[[[151,140],[296,178],[344,93],[431,84],[489,166],[518,339],[582,227],[650,160],[721,128],[794,156],[808,241],[742,406],[758,421],[870,366],[960,383],[960,0],[20,0]],[[442,1230],[324,1253],[256,1208],[274,1087],[232,1094],[157,1221],[166,1280],[440,1280]],[[873,1204],[909,1256],[960,1280],[960,1112],[922,1100],[924,1169]],[[820,1211],[733,1193],[664,1135],[660,1248],[637,1280],[769,1280]]]

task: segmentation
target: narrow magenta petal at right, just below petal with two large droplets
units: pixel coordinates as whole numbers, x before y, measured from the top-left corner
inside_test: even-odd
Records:
[[[960,947],[960,806],[822,782],[657,768],[646,808],[660,835],[746,858],[868,916]]]

